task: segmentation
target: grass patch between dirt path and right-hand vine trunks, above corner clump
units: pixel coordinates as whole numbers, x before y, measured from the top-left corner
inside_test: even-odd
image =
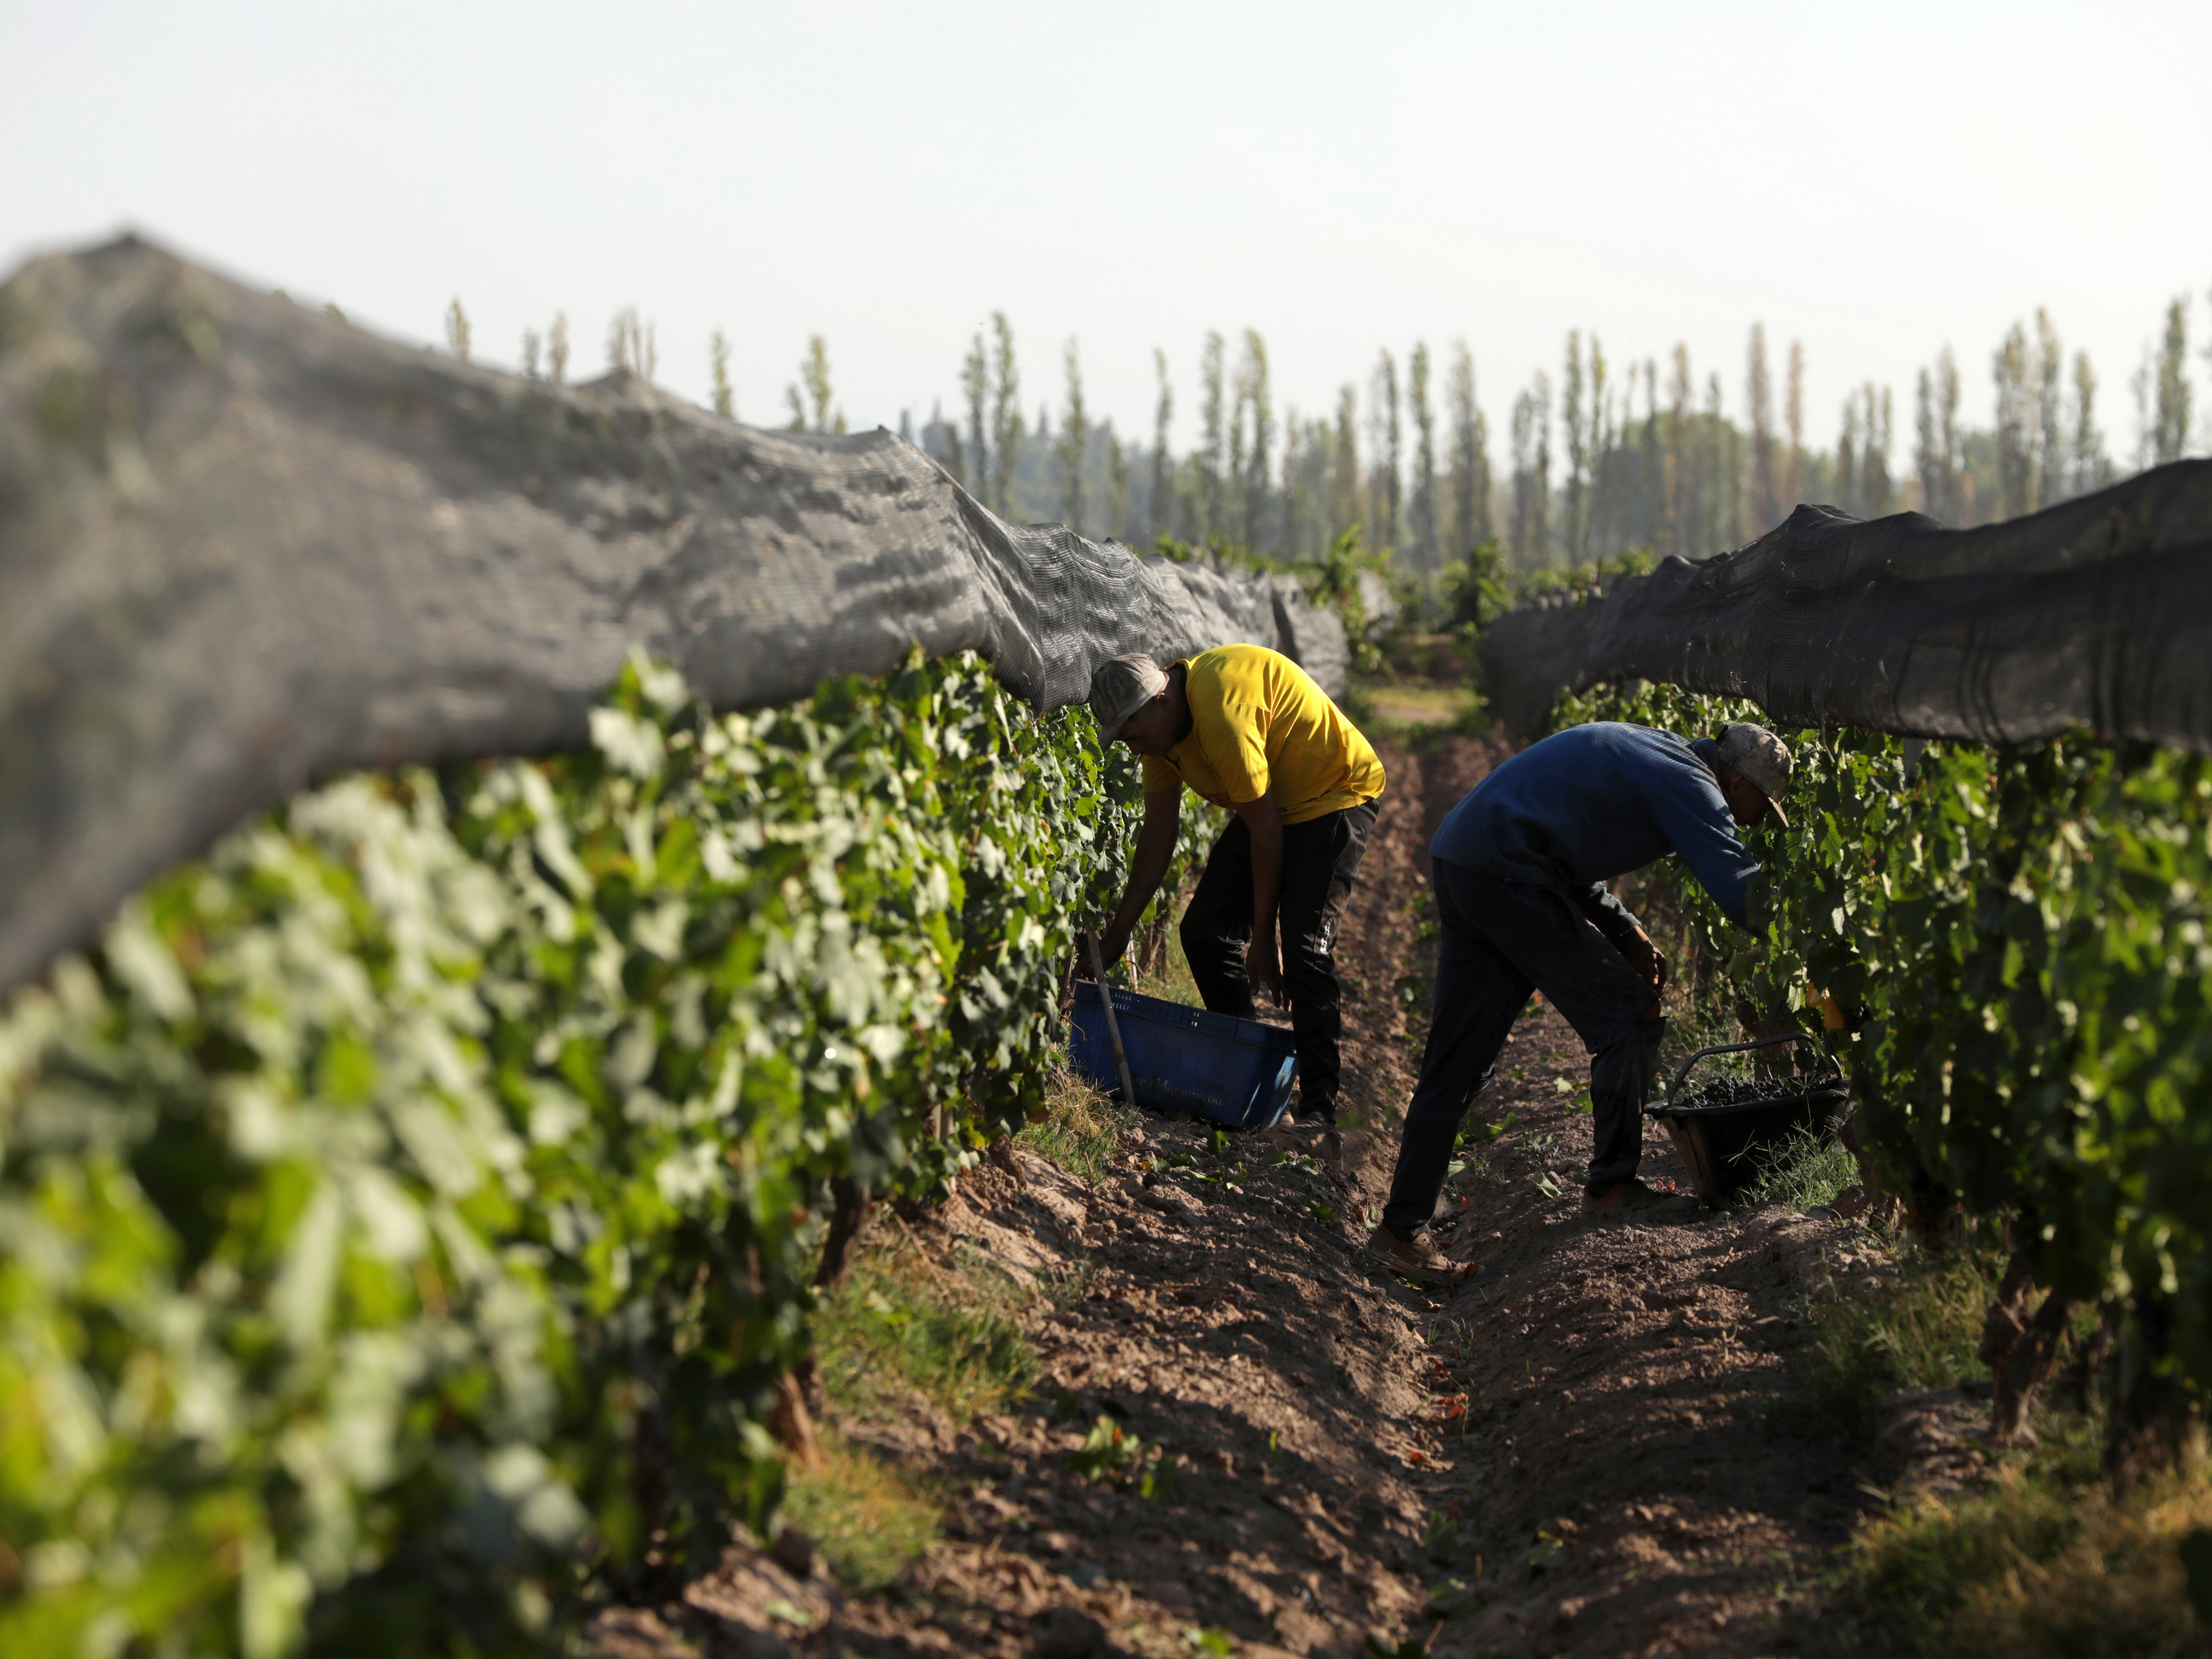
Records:
[[[1898,1389],[1986,1380],[1982,1316],[2002,1276],[2004,1250],[1966,1241],[1940,1254],[1905,1250],[1891,1283],[1814,1301],[1805,1310],[1812,1338],[1796,1354],[1801,1398],[1816,1416],[1867,1440]]]

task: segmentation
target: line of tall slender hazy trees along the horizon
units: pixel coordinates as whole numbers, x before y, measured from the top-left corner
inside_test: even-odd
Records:
[[[1807,438],[1803,343],[1774,349],[1763,323],[1745,341],[1734,409],[1721,369],[1694,365],[1688,345],[1663,363],[1615,365],[1595,330],[1571,330],[1557,378],[1540,369],[1513,394],[1502,442],[1464,338],[1442,354],[1420,341],[1402,358],[1383,347],[1365,385],[1347,380],[1332,409],[1307,414],[1279,409],[1259,330],[1234,341],[1214,330],[1199,345],[1188,442],[1164,349],[1152,352],[1148,434],[1093,418],[1077,341],[1062,345],[1053,396],[1031,416],[1004,312],[969,341],[953,409],[940,400],[918,429],[900,414],[900,434],[1004,518],[1057,520],[1135,546],[1166,535],[1316,560],[1358,524],[1367,546],[1391,549],[1402,568],[1436,573],[1498,540],[1511,566],[1542,571],[1632,549],[1710,557],[1798,502],[1858,518],[1918,509],[1964,529],[2101,489],[2190,449],[2188,336],[2183,294],[2130,380],[2135,445],[2124,458],[2110,453],[2088,352],[2068,354],[2044,310],[2013,323],[1991,354],[1991,427],[1960,420],[1962,372],[1947,345],[1916,376],[1909,434],[1898,431],[1893,389],[1867,380],[1845,394],[1827,447]],[[458,299],[447,345],[469,354]],[[562,380],[566,319],[546,336],[526,332],[522,356],[526,374]],[[734,418],[719,330],[708,358],[714,409]],[[608,365],[653,378],[655,363],[650,323],[624,310]],[[785,416],[796,431],[845,431],[821,334],[807,338]]]

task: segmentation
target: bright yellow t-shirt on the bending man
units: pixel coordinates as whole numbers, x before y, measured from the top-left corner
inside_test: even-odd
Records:
[[[1144,757],[1144,792],[1188,783],[1217,807],[1259,801],[1274,785],[1283,823],[1305,823],[1383,794],[1383,761],[1329,695],[1265,646],[1214,646],[1186,657],[1190,737]]]

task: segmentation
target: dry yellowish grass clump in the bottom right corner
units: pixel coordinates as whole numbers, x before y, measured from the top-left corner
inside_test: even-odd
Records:
[[[1840,1588],[1896,1652],[1944,1659],[2205,1659],[2181,1540],[2212,1524],[2203,1464],[2112,1498],[2075,1420],[1980,1491],[1887,1511],[1851,1542]]]

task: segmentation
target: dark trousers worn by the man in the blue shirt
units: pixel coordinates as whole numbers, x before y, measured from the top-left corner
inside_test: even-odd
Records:
[[[1436,1013],[1383,1208],[1398,1239],[1411,1239],[1436,1214],[1460,1119],[1491,1082],[1528,991],[1542,991],[1590,1051],[1593,1192],[1637,1172],[1644,1099],[1666,1031],[1666,1020],[1644,1018],[1659,1002],[1650,980],[1628,967],[1571,894],[1491,880],[1442,858],[1431,887],[1444,925]]]

